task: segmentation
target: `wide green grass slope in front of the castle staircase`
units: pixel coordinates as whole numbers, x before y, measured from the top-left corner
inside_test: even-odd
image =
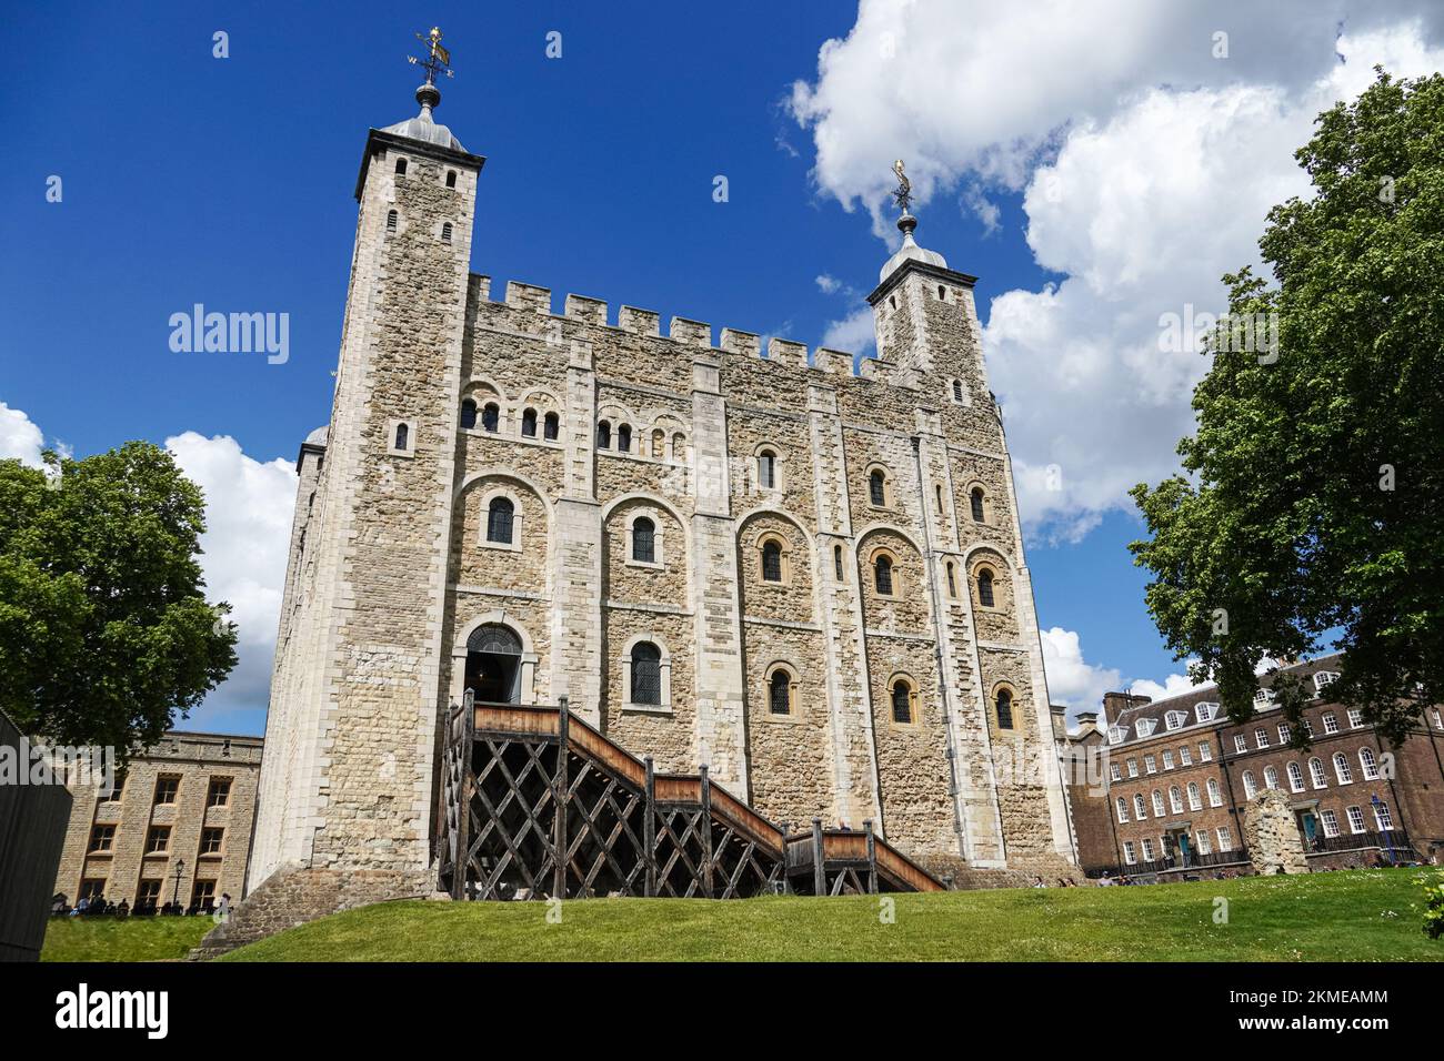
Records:
[[[1421,931],[1421,870],[877,896],[388,902],[244,947],[232,961],[1441,960]],[[1431,876],[1438,876],[1431,870]],[[1214,924],[1216,896],[1229,901]]]

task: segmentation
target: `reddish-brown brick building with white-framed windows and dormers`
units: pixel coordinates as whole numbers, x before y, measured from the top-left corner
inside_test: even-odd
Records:
[[[1084,716],[1067,739],[1073,761],[1092,762],[1093,782],[1074,774],[1069,785],[1084,870],[1165,881],[1253,872],[1245,816],[1268,788],[1287,797],[1311,870],[1444,856],[1444,716],[1428,709],[1389,748],[1328,699],[1337,667],[1330,655],[1289,668],[1314,693],[1307,752],[1288,746],[1266,687],[1242,726],[1212,686],[1157,702],[1108,693],[1102,723]]]

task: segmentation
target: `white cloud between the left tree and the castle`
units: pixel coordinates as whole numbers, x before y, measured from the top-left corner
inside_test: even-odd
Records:
[[[260,712],[270,696],[276,626],[286,585],[286,553],[296,504],[296,466],[247,456],[235,439],[185,432],[166,439],[176,463],[205,492],[201,566],[206,599],[227,601],[237,625],[238,663],[188,728],[208,713]],[[234,723],[231,723],[234,725]]]

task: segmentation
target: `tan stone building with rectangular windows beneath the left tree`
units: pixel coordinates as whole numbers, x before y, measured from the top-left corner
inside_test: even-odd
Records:
[[[74,787],[55,891],[72,905],[124,899],[136,912],[240,899],[260,767],[260,738],[172,732],[133,756],[111,791]]]

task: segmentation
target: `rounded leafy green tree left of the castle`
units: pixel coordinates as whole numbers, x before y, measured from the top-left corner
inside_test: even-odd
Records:
[[[235,665],[208,605],[199,488],[130,442],[46,471],[0,462],[0,709],[55,743],[160,739]]]

